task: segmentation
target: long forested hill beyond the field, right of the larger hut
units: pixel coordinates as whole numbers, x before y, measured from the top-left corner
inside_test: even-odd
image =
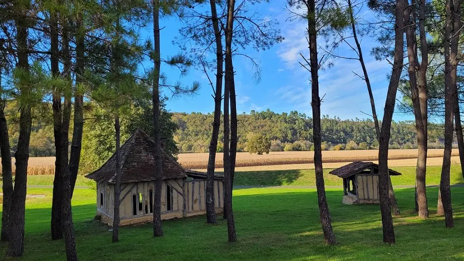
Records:
[[[173,121],[178,124],[174,138],[180,152],[207,152],[213,115],[211,113],[173,113]],[[247,139],[255,134],[263,134],[271,140],[271,150],[311,150],[313,143],[312,119],[296,111],[274,113],[251,111],[238,115],[238,136],[240,151],[246,151]],[[222,125],[221,125],[222,126]],[[323,148],[367,149],[377,147],[375,127],[372,120],[341,120],[325,115],[321,119]],[[222,140],[222,129],[219,132]],[[441,147],[443,129],[429,127],[429,147]],[[340,145],[339,145],[340,144]],[[415,148],[416,133],[413,121],[399,121],[392,124],[391,148]],[[339,146],[337,146],[339,145]],[[222,144],[218,145],[220,151]]]

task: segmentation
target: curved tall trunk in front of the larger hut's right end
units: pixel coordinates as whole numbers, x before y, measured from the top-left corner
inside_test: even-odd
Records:
[[[206,220],[210,224],[217,222],[214,210],[214,167],[216,163],[217,138],[221,123],[221,100],[222,100],[222,39],[216,12],[216,2],[210,0],[211,20],[216,42],[216,89],[214,92],[214,120],[211,141],[209,143],[208,167],[206,172]]]

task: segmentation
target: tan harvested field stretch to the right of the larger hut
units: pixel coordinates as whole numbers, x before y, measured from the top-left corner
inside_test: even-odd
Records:
[[[453,156],[458,156],[457,149],[453,149]],[[429,149],[429,158],[440,159],[443,156],[443,149]],[[282,151],[270,152],[269,154],[257,155],[248,152],[237,153],[237,167],[254,167],[254,166],[269,166],[269,165],[293,165],[305,164],[305,168],[314,168],[314,151]],[[376,161],[378,158],[378,150],[338,150],[338,151],[323,151],[322,160],[324,163],[340,163],[352,161]],[[407,164],[415,162],[417,158],[417,149],[391,149],[389,151],[389,159],[403,160],[399,163]],[[206,169],[208,164],[208,153],[182,153],[179,154],[179,162],[184,168],[190,169]],[[434,162],[438,163],[438,162]],[[415,163],[414,163],[415,164]],[[440,163],[441,164],[441,163]],[[438,164],[438,165],[440,165]],[[313,167],[310,167],[313,165]],[[343,164],[342,164],[343,165]],[[339,164],[326,166],[337,167]],[[392,165],[393,166],[393,165]],[[396,166],[400,166],[397,165]],[[402,165],[403,166],[403,165]],[[216,167],[222,168],[222,153],[216,154]],[[239,169],[238,169],[239,170]]]

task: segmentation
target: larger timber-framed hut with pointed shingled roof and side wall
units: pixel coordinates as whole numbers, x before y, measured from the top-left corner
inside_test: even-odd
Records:
[[[138,129],[121,146],[120,225],[150,222],[154,201],[154,143]],[[161,218],[171,219],[206,213],[206,173],[185,170],[163,152],[163,186]],[[114,185],[116,154],[96,171],[86,176],[97,182],[96,219],[112,225],[114,216]],[[216,213],[223,209],[223,177],[214,177]]]

